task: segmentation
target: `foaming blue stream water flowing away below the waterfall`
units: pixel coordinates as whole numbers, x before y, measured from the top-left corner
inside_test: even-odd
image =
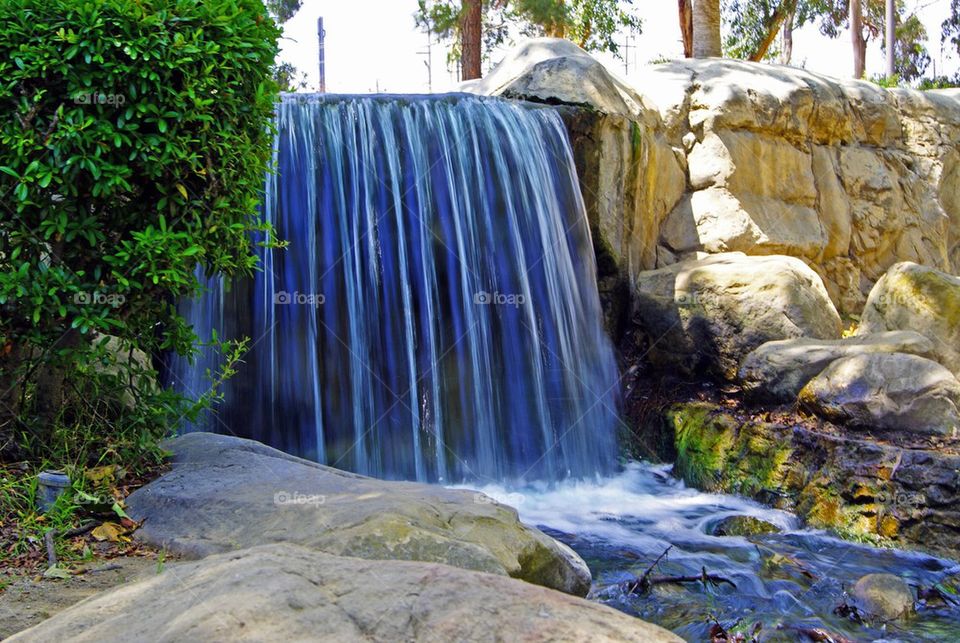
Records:
[[[726,628],[760,623],[762,641],[808,640],[800,630],[821,628],[853,641],[957,641],[960,608],[919,605],[906,621],[857,623],[834,610],[861,576],[888,572],[929,588],[960,564],[921,553],[880,549],[800,528],[793,515],[725,494],[687,488],[670,465],[631,463],[597,483],[566,482],[523,490],[480,488],[517,508],[527,524],[565,542],[594,577],[591,598],[673,630],[690,641],[709,640],[716,618]],[[782,531],[761,536],[711,535],[729,516],[748,515]],[[659,576],[699,575],[703,569],[736,587],[700,582],[663,584],[646,595],[623,584],[672,545]],[[749,640],[749,639],[748,639]]]

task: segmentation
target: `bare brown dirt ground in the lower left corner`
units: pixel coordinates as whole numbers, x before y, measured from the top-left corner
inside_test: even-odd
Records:
[[[72,565],[70,578],[4,575],[0,571],[0,640],[46,620],[83,599],[117,585],[148,577],[172,561],[158,565],[156,556],[118,556]]]

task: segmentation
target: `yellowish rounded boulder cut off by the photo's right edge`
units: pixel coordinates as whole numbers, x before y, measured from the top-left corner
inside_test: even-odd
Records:
[[[903,262],[870,291],[858,335],[914,330],[934,345],[937,361],[960,375],[960,277]]]

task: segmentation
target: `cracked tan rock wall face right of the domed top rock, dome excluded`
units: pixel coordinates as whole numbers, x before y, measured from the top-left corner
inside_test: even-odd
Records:
[[[848,313],[896,261],[960,271],[956,92],[733,60],[629,81],[687,153],[690,185],[661,229],[670,251],[803,257]]]

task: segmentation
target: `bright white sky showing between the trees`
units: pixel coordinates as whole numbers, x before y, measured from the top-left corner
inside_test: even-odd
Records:
[[[682,47],[676,2],[635,0],[634,6],[643,19],[643,33],[631,40],[630,68],[658,57],[679,57]],[[940,46],[940,25],[949,13],[950,0],[907,0],[907,6],[919,11],[927,27],[927,49],[937,73],[952,75],[960,61],[955,51]],[[414,23],[416,9],[417,0],[304,0],[297,15],[285,25],[281,59],[307,72],[307,89],[317,89],[317,18],[323,16],[327,91],[427,92],[427,36]],[[485,71],[501,56],[502,52],[492,56],[485,63]],[[623,61],[609,55],[598,57],[619,75],[629,75],[624,73]],[[430,59],[433,91],[455,89],[456,73],[447,65],[445,43],[433,43]],[[816,26],[805,27],[794,36],[793,64],[833,76],[849,76],[853,67],[849,35],[829,39],[820,35]],[[879,74],[883,67],[880,43],[871,41],[867,75]],[[928,75],[932,71],[928,70]]]

